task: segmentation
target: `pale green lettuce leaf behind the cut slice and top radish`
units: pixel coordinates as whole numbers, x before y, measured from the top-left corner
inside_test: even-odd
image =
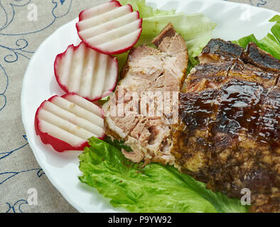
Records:
[[[134,11],[138,10],[140,17],[143,18],[143,30],[136,46],[151,45],[151,41],[161,32],[161,30],[171,22],[178,33],[180,33],[188,46],[189,65],[188,72],[198,64],[195,60],[208,41],[212,38],[212,31],[216,24],[213,23],[203,13],[186,15],[185,13],[176,13],[175,10],[163,11],[146,6],[146,0],[120,0],[122,5],[131,4]],[[119,60],[119,69],[121,70],[126,62],[128,52],[117,55]]]

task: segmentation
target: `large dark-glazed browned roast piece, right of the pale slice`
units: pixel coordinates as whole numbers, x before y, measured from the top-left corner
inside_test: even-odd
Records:
[[[220,39],[199,58],[179,95],[175,166],[230,197],[249,189],[252,212],[279,212],[280,61]]]

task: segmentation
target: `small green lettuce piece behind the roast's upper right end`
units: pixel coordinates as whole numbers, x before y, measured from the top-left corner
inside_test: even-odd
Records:
[[[248,35],[237,41],[233,41],[232,43],[236,43],[242,48],[246,48],[249,42],[254,42],[259,46],[259,48],[269,52],[272,56],[280,60],[280,16],[276,15],[269,21],[276,23],[271,28],[271,33],[268,33],[261,40],[257,40],[254,35]]]

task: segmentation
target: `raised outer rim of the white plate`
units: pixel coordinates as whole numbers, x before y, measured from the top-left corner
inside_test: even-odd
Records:
[[[157,2],[157,4],[158,4],[158,2],[160,2],[160,4],[159,4],[160,6],[168,3],[168,1],[179,1],[180,2],[180,0],[166,0],[166,1],[150,0],[150,1]],[[205,1],[205,0],[188,0],[188,1],[191,2],[191,1]],[[257,7],[257,6],[250,6],[249,4],[244,4],[244,3],[237,3],[237,2],[232,2],[232,1],[222,1],[222,0],[207,0],[207,1],[211,2],[211,4],[219,3],[219,4],[226,4],[226,5],[243,6],[244,8],[255,8],[255,9],[258,9],[259,11],[269,11],[270,13],[279,14],[279,12],[273,11],[271,9],[260,8],[260,7]],[[28,67],[26,67],[26,71],[25,71],[24,76],[23,76],[22,88],[21,88],[21,119],[22,119],[22,122],[23,122],[24,130],[26,131],[27,138],[28,138],[29,132],[28,132],[28,123],[27,123],[26,113],[25,113],[25,111],[23,111],[23,109],[25,109],[25,107],[23,107],[23,99],[24,99],[24,93],[25,93],[26,87],[27,87],[26,81],[27,81],[27,77],[28,77],[27,76],[28,72],[30,71],[30,68],[31,68],[31,65],[32,65],[34,59],[36,58],[36,56],[38,55],[40,50],[43,48],[45,43],[47,43],[48,40],[50,40],[50,38],[52,38],[52,36],[55,33],[58,33],[58,31],[63,30],[63,28],[67,27],[70,23],[74,23],[74,21],[77,21],[77,19],[78,18],[75,18],[72,21],[68,21],[68,23],[63,24],[63,26],[60,26],[59,28],[55,29],[55,31],[53,31],[53,33],[48,35],[48,37],[45,38],[45,40],[43,40],[41,45],[38,46],[36,52],[31,57],[31,60],[29,60],[29,62],[28,62]],[[38,162],[38,165],[40,165],[42,170],[45,172],[45,175],[48,177],[48,180],[50,181],[50,183],[53,184],[53,187],[55,187],[55,189],[57,189],[58,192],[60,192],[60,194],[66,199],[66,201],[68,201],[68,203],[74,209],[76,209],[80,213],[86,212],[84,209],[82,209],[82,206],[80,204],[78,204],[77,202],[75,202],[74,200],[71,199],[70,194],[68,194],[68,192],[65,192],[65,189],[63,189],[63,187],[60,187],[60,185],[58,184],[57,180],[55,180],[55,177],[53,177],[50,174],[50,172],[48,171],[48,168],[45,167],[45,165],[43,163],[43,160],[41,160],[41,158],[38,156],[38,152],[40,152],[40,150],[36,151],[38,148],[35,148],[33,143],[28,143],[28,145],[30,146],[30,148],[31,148],[31,150],[33,152],[33,155],[35,156],[36,161]],[[112,209],[115,209],[115,208],[112,207]]]

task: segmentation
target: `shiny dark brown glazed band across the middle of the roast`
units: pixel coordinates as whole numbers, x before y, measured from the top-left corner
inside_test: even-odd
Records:
[[[188,135],[206,130],[209,143],[217,133],[274,143],[279,141],[279,101],[279,89],[231,79],[220,89],[181,93],[179,114]]]

